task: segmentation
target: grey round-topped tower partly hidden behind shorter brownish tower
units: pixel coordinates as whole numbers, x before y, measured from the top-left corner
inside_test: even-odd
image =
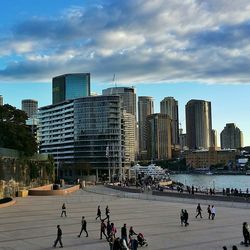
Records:
[[[171,119],[172,145],[179,145],[179,112],[178,101],[173,97],[165,97],[161,101],[161,114],[166,114]]]

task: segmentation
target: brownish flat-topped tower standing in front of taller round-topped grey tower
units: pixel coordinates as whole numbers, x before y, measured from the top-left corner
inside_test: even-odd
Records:
[[[166,160],[172,158],[171,119],[166,114],[152,114],[147,117],[148,159]]]

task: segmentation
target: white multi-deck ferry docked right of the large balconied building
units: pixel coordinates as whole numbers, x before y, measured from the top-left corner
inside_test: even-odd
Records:
[[[153,163],[148,166],[141,166],[140,164],[136,164],[130,170],[134,171],[135,174],[144,174],[144,176],[151,176],[157,179],[169,179],[169,175],[166,171]]]

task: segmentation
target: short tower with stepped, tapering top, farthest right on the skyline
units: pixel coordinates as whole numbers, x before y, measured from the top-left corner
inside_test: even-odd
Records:
[[[227,123],[220,134],[221,148],[238,149],[243,147],[243,134],[234,123]]]

